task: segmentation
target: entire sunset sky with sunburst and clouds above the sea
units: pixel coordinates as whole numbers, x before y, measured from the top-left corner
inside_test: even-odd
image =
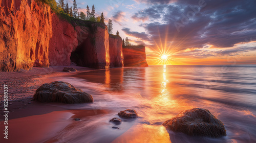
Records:
[[[73,1],[68,0],[70,6]],[[92,5],[113,33],[145,44],[148,64],[256,64],[256,1],[77,0]],[[167,61],[161,62],[161,55]]]

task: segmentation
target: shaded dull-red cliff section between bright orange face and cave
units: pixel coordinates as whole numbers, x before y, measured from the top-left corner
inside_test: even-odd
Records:
[[[73,26],[56,14],[52,16],[52,33],[49,41],[50,65],[70,65],[71,53],[89,36],[88,28]]]

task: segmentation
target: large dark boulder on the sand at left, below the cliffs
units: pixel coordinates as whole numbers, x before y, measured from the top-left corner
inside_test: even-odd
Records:
[[[55,81],[41,85],[34,94],[34,99],[39,102],[60,103],[89,103],[93,97],[81,89],[75,88],[67,82]]]

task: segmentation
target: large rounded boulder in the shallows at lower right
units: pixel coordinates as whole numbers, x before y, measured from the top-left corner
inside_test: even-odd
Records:
[[[174,132],[183,132],[192,136],[221,137],[227,135],[224,124],[209,110],[202,108],[184,110],[165,121],[163,126]]]

